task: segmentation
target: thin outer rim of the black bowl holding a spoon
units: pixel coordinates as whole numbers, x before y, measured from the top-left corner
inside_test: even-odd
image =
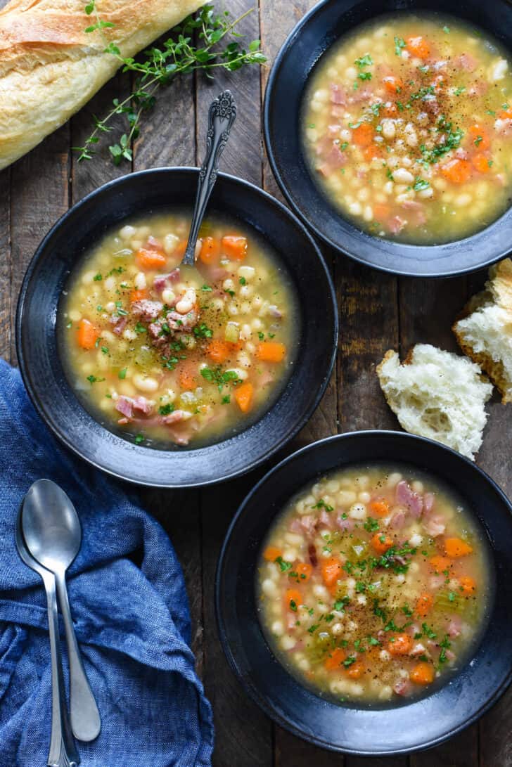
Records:
[[[137,480],[131,479],[130,476],[127,476],[126,474],[123,474],[121,472],[114,471],[114,469],[105,468],[104,466],[101,465],[101,463],[95,461],[94,459],[88,456],[82,455],[81,450],[77,446],[75,446],[70,439],[68,439],[64,431],[58,429],[58,427],[55,426],[53,421],[51,421],[47,417],[45,412],[45,407],[43,407],[43,404],[41,402],[40,397],[38,396],[37,391],[31,384],[31,376],[28,372],[28,369],[30,366],[28,365],[27,360],[25,358],[25,352],[24,352],[23,343],[22,343],[22,333],[23,333],[22,320],[23,320],[23,314],[25,311],[25,304],[27,301],[28,288],[31,284],[32,277],[35,272],[35,268],[38,265],[41,255],[47,249],[48,242],[51,240],[55,232],[57,232],[58,229],[60,229],[61,225],[64,222],[66,222],[70,216],[75,215],[76,212],[79,211],[82,206],[85,206],[88,202],[90,202],[91,199],[94,199],[94,197],[97,196],[98,194],[104,193],[105,191],[115,190],[117,186],[122,186],[124,183],[127,183],[128,179],[135,179],[134,183],[137,183],[136,179],[139,179],[141,176],[148,176],[155,173],[173,173],[173,172],[199,173],[200,169],[195,166],[159,166],[157,168],[147,168],[145,170],[136,171],[135,173],[126,173],[124,176],[119,176],[116,179],[111,179],[110,181],[107,181],[107,183],[104,183],[101,186],[98,186],[96,189],[93,189],[86,196],[78,200],[78,202],[75,202],[74,206],[71,206],[67,211],[65,211],[63,215],[55,222],[55,224],[51,226],[51,229],[49,229],[45,237],[39,243],[37,249],[35,250],[34,255],[32,255],[31,260],[28,263],[28,267],[26,268],[23,281],[21,283],[21,288],[18,295],[18,302],[16,306],[16,316],[15,316],[15,347],[16,347],[16,354],[18,356],[18,363],[19,363],[19,369],[21,372],[21,378],[23,380],[25,389],[27,390],[31,403],[34,405],[35,410],[38,413],[38,416],[40,416],[43,423],[45,423],[45,425],[48,426],[53,436],[55,436],[59,440],[59,442],[64,444],[64,446],[70,449],[72,453],[74,453],[76,456],[78,456],[81,460],[85,461],[89,465],[94,466],[94,468],[100,469],[101,472],[104,472],[109,476],[113,476],[116,479],[121,479],[125,482],[130,482],[131,484],[134,484],[135,486],[153,487],[153,488],[161,488],[161,489],[187,489],[187,488],[212,486],[212,485],[220,484],[221,482],[228,482],[239,476],[243,476],[244,474],[252,471],[253,469],[256,469],[257,466],[260,466],[263,463],[266,463],[266,461],[271,456],[273,456],[276,452],[282,449],[282,447],[285,446],[286,443],[288,443],[291,439],[293,439],[293,437],[296,436],[296,434],[299,433],[299,431],[306,425],[306,423],[312,417],[312,414],[315,412],[316,408],[319,406],[319,403],[322,400],[325,390],[327,386],[329,385],[329,380],[331,379],[331,376],[332,376],[332,370],[335,365],[336,354],[338,353],[339,312],[338,312],[338,302],[336,300],[335,286],[334,286],[334,281],[332,279],[331,272],[329,270],[327,263],[325,262],[325,258],[322,254],[321,249],[319,248],[319,245],[317,244],[317,242],[315,242],[315,239],[313,239],[312,234],[311,232],[309,232],[309,229],[306,227],[306,225],[304,225],[304,223],[295,215],[295,213],[292,210],[290,210],[286,205],[280,202],[279,199],[276,199],[276,197],[266,192],[265,189],[262,189],[259,186],[256,186],[256,184],[253,184],[252,182],[247,181],[246,179],[239,178],[239,176],[233,176],[230,173],[221,173],[221,172],[218,173],[218,178],[220,178],[221,180],[227,183],[232,183],[235,186],[236,185],[244,186],[246,187],[246,189],[249,190],[249,193],[263,196],[263,198],[266,199],[267,204],[271,206],[276,206],[276,208],[280,212],[282,212],[285,216],[287,216],[290,219],[290,223],[292,223],[292,225],[295,225],[299,229],[299,231],[302,233],[302,235],[307,240],[309,240],[310,245],[312,247],[312,251],[315,253],[316,258],[318,259],[319,268],[322,270],[323,274],[325,275],[327,287],[329,289],[328,297],[330,298],[332,302],[332,308],[333,308],[333,314],[334,314],[334,326],[332,328],[333,337],[332,337],[331,354],[330,354],[328,364],[325,370],[325,377],[323,377],[323,379],[319,382],[319,389],[316,393],[316,396],[314,400],[312,401],[309,409],[306,411],[306,413],[304,413],[302,418],[296,422],[292,430],[289,430],[286,436],[282,436],[279,439],[277,439],[273,447],[269,449],[264,455],[262,455],[258,459],[254,459],[251,463],[247,464],[247,466],[244,466],[241,469],[237,469],[236,471],[228,473],[225,476],[222,476],[220,478],[209,479],[206,482],[181,482],[180,484],[173,484],[172,482],[155,483],[149,480],[143,482],[138,479]],[[259,234],[263,235],[264,237],[264,228],[262,228]],[[243,434],[243,432],[241,432],[241,434]],[[213,445],[215,444],[217,443],[213,443]],[[137,448],[148,449],[148,448],[144,448],[144,446],[137,446]]]

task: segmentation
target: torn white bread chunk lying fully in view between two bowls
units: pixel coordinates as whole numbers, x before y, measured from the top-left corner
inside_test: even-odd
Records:
[[[378,380],[405,431],[458,450],[474,459],[487,422],[492,385],[477,364],[430,344],[417,344],[403,364],[387,351]]]

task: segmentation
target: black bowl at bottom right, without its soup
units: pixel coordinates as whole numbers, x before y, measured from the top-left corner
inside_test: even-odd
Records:
[[[337,705],[315,695],[276,660],[256,606],[261,543],[276,513],[302,486],[332,469],[381,461],[408,463],[444,480],[474,512],[491,551],[487,624],[473,657],[443,686],[392,708]],[[220,554],[216,617],[224,652],[246,693],[280,726],[318,746],[357,755],[395,755],[436,746],[474,722],[512,679],[512,505],[477,466],[429,439],[386,431],[322,439],[272,469],[240,506]]]

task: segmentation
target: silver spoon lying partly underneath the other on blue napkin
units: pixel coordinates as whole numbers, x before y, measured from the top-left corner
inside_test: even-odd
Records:
[[[55,591],[55,575],[41,567],[29,553],[23,533],[21,532],[21,515],[23,505],[18,509],[16,518],[15,538],[16,548],[21,561],[27,567],[41,575],[45,584],[46,603],[48,605],[48,627],[50,630],[51,654],[51,739],[48,749],[47,764],[51,767],[76,767],[80,764],[80,756],[74,745],[71,726],[66,706],[64,692],[64,674],[62,672],[61,641],[58,636],[57,593]]]

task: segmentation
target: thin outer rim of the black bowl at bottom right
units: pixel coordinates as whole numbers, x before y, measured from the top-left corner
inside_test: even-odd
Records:
[[[236,680],[238,680],[239,684],[243,688],[244,693],[246,693],[246,695],[249,696],[250,700],[252,700],[253,703],[256,703],[259,709],[261,709],[263,713],[265,713],[266,716],[269,717],[269,719],[272,719],[273,722],[279,724],[279,726],[281,726],[282,728],[288,730],[289,732],[292,732],[293,735],[296,735],[299,738],[306,740],[306,742],[312,743],[315,746],[320,746],[321,748],[327,749],[332,752],[344,753],[344,754],[349,754],[354,756],[365,756],[365,757],[372,757],[372,756],[393,757],[397,755],[407,755],[414,752],[424,751],[427,749],[434,748],[435,746],[439,746],[441,745],[441,743],[444,743],[447,740],[453,738],[459,732],[462,732],[464,729],[467,729],[467,727],[471,726],[471,724],[474,724],[475,722],[477,722],[478,719],[481,719],[481,716],[483,716],[484,713],[486,713],[489,709],[491,709],[497,703],[500,697],[504,695],[504,693],[507,691],[508,687],[510,686],[510,683],[512,683],[512,663],[510,663],[510,670],[507,674],[506,679],[504,680],[503,683],[500,684],[497,690],[494,691],[494,694],[490,696],[487,699],[487,701],[475,713],[467,717],[467,719],[464,719],[462,723],[460,723],[458,726],[451,729],[448,733],[444,733],[443,735],[438,736],[437,738],[433,738],[429,740],[428,742],[422,742],[419,746],[415,746],[412,748],[406,747],[402,749],[396,749],[393,751],[350,749],[347,747],[342,748],[341,746],[336,746],[330,742],[327,742],[321,738],[318,738],[310,734],[309,732],[306,732],[305,730],[302,730],[299,727],[295,726],[293,723],[289,721],[289,719],[286,719],[286,717],[281,716],[280,713],[275,708],[269,706],[266,699],[263,696],[259,695],[259,692],[256,686],[251,686],[248,683],[246,683],[245,676],[239,673],[236,660],[233,657],[233,653],[231,651],[230,643],[226,637],[227,632],[226,632],[226,627],[225,627],[224,619],[223,619],[223,609],[221,606],[221,603],[222,603],[221,588],[222,588],[222,581],[224,577],[223,569],[224,569],[224,562],[226,558],[226,551],[230,545],[230,538],[233,533],[233,529],[238,524],[239,518],[243,516],[246,506],[249,505],[249,502],[253,500],[253,498],[259,492],[259,489],[265,484],[265,482],[271,476],[281,471],[282,469],[285,469],[286,466],[289,463],[292,463],[292,461],[294,461],[298,456],[302,456],[302,454],[311,452],[319,447],[321,448],[326,443],[331,443],[336,441],[339,441],[342,443],[343,441],[347,439],[368,439],[368,438],[375,439],[375,438],[378,438],[379,436],[387,436],[387,437],[391,436],[391,438],[398,437],[401,439],[410,440],[411,443],[415,443],[415,442],[426,443],[432,446],[434,449],[440,449],[441,453],[444,451],[451,453],[455,458],[460,459],[468,467],[471,467],[471,469],[474,469],[474,471],[480,474],[481,479],[484,479],[484,482],[487,482],[491,485],[492,489],[494,489],[494,492],[497,493],[497,495],[500,497],[500,500],[504,503],[504,506],[508,509],[508,512],[510,513],[510,515],[512,515],[512,501],[510,501],[510,499],[507,498],[507,495],[500,488],[497,482],[495,482],[494,479],[492,479],[492,477],[487,474],[487,472],[484,472],[484,469],[481,469],[480,466],[477,466],[476,463],[466,458],[465,456],[461,455],[461,453],[458,453],[457,450],[454,450],[451,447],[444,445],[443,443],[439,443],[435,441],[434,439],[428,439],[428,437],[419,436],[417,434],[411,434],[408,432],[401,432],[397,430],[386,430],[386,429],[366,429],[366,430],[356,430],[352,432],[344,432],[341,434],[333,434],[331,436],[323,437],[322,439],[317,439],[315,442],[309,443],[308,445],[299,448],[294,453],[291,453],[289,456],[286,456],[279,463],[277,463],[276,466],[273,466],[271,469],[269,469],[269,471],[266,472],[266,474],[261,479],[259,479],[259,482],[256,482],[256,485],[249,490],[248,494],[244,497],[243,501],[240,503],[238,509],[236,509],[235,515],[233,515],[233,519],[231,520],[230,525],[227,528],[226,535],[223,540],[223,545],[220,548],[219,557],[217,559],[215,579],[213,583],[216,628],[217,628],[217,634],[220,638],[220,644],[223,648],[224,656],[226,657],[226,660],[230,666],[230,670],[233,672],[233,675],[236,677]],[[364,461],[364,459],[362,460]],[[300,484],[300,480],[298,484]],[[488,544],[489,544],[490,551],[494,555],[494,547],[490,539],[488,541]],[[277,662],[279,663],[279,661]]]

